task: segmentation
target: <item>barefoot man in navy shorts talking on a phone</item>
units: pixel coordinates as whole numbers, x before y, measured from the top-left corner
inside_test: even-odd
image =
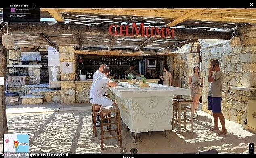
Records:
[[[215,74],[212,75],[212,71]],[[213,60],[211,62],[211,68],[209,69],[208,81],[209,85],[209,96],[208,96],[208,110],[212,110],[214,118],[214,127],[210,130],[219,130],[218,119],[220,118],[220,123],[222,130],[219,135],[227,134],[225,127],[225,118],[221,113],[221,100],[222,100],[222,85],[224,82],[224,73],[220,70],[220,62],[218,60]]]

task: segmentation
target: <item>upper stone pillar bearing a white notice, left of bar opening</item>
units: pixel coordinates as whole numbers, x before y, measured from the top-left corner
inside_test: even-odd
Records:
[[[75,81],[75,54],[73,46],[59,46],[60,61],[73,63],[73,72],[64,74],[62,70],[62,64],[60,66],[61,80],[62,81]]]

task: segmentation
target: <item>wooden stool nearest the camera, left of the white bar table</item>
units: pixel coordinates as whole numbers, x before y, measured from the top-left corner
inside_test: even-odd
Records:
[[[115,116],[111,117],[111,112],[115,112]],[[110,113],[106,116],[106,118],[103,118],[103,113]],[[107,109],[104,107],[100,108],[100,117],[101,117],[101,150],[103,150],[103,140],[104,139],[112,139],[117,138],[118,141],[120,141],[120,148],[122,148],[122,136],[121,136],[121,125],[120,125],[120,114],[119,109],[117,106],[113,106],[113,108]],[[111,119],[115,119],[115,122],[111,122]],[[108,123],[104,123],[104,120],[108,120]],[[116,129],[111,129],[111,125],[115,124]],[[106,131],[103,130],[103,126],[110,126],[110,128]],[[104,137],[104,133],[109,132],[110,135],[113,131],[116,131],[116,135],[110,136],[110,137]]]

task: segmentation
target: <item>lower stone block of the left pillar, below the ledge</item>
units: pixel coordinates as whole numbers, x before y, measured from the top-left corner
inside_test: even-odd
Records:
[[[75,82],[67,81],[61,83],[61,103],[75,104],[76,99]]]

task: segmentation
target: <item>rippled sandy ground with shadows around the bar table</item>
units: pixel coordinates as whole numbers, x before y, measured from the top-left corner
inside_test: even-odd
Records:
[[[133,143],[130,132],[122,129],[123,148],[130,153],[137,148],[138,153],[189,153],[216,148],[218,153],[248,153],[248,143],[256,145],[256,135],[243,129],[242,125],[226,120],[227,135],[218,135],[218,131],[209,131],[213,127],[213,118],[199,111],[195,120],[194,133],[182,130],[181,134],[171,131],[169,139],[163,131],[138,133],[138,142]],[[28,133],[30,152],[72,152],[72,153],[120,153],[116,139],[104,141],[101,150],[99,137],[92,133],[90,110],[71,112],[44,112],[27,114],[8,114],[9,133]],[[220,125],[220,123],[219,123]],[[3,147],[0,142],[0,148]]]

